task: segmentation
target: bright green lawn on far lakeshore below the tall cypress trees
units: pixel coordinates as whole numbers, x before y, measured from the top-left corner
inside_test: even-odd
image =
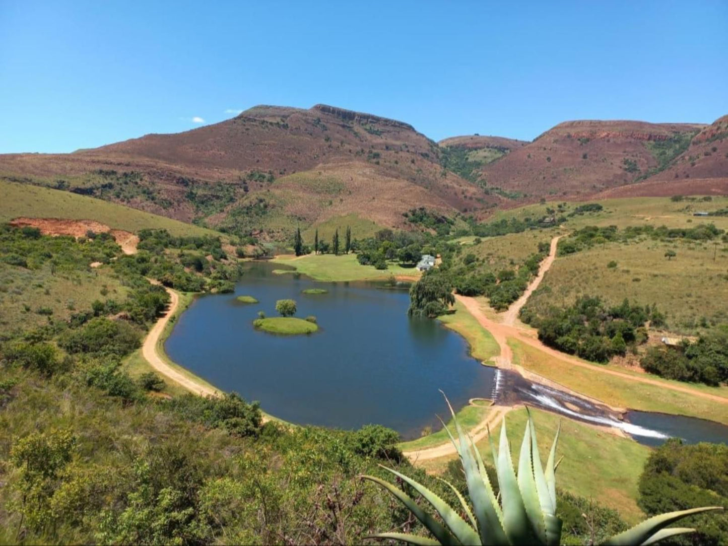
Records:
[[[363,266],[357,261],[355,254],[308,254],[292,256],[289,254],[276,256],[274,264],[285,264],[296,268],[296,272],[308,275],[314,280],[347,281],[387,279],[389,275],[408,275],[419,277],[420,272],[414,267],[400,267],[389,262],[387,269],[374,269],[374,266]]]

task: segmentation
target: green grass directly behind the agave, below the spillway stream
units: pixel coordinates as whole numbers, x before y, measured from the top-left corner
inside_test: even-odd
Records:
[[[644,517],[637,506],[637,483],[642,467],[649,456],[649,448],[630,438],[620,438],[606,430],[591,427],[571,419],[563,419],[546,411],[531,410],[536,424],[539,451],[545,463],[561,421],[557,456],[563,461],[556,472],[556,485],[571,493],[593,497],[602,505],[619,510],[623,518],[636,523]],[[508,438],[514,464],[523,440],[526,411],[511,411],[506,416]],[[494,430],[499,438],[500,426]],[[478,443],[483,460],[492,464],[488,438]],[[423,463],[427,470],[442,472],[454,456],[433,459]]]

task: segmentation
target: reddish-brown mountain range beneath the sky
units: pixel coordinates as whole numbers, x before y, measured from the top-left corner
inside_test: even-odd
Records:
[[[71,154],[0,154],[0,179],[271,238],[341,218],[397,228],[418,207],[486,218],[539,199],[727,194],[728,116],[707,125],[573,121],[531,142],[435,143],[372,114],[256,106]]]

